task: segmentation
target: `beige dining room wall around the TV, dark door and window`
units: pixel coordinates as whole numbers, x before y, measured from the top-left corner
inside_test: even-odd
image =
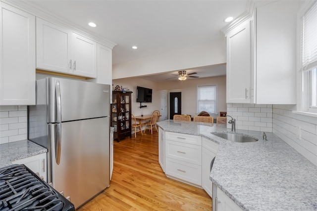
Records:
[[[211,77],[202,79],[187,79],[186,81],[166,81],[166,82],[152,82],[149,80],[143,80],[139,78],[130,79],[117,79],[112,80],[113,85],[122,85],[123,87],[128,87],[132,89],[132,113],[135,116],[141,114],[152,114],[154,110],[160,110],[160,90],[169,91],[180,91],[182,92],[182,114],[188,114],[191,116],[196,116],[196,99],[197,99],[197,85],[217,85],[217,112],[215,115],[219,116],[220,111],[226,111],[226,77]],[[146,108],[139,108],[140,103],[136,102],[136,87],[143,86],[146,88],[153,89],[152,103],[142,103],[142,105],[147,105]],[[167,96],[169,99],[169,95]],[[167,104],[168,107],[168,104]],[[168,113],[168,111],[167,111]],[[168,119],[169,116],[167,116]]]

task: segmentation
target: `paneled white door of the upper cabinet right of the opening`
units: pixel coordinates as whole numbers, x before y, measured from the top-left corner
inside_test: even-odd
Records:
[[[252,80],[251,21],[227,35],[227,103],[250,103]]]

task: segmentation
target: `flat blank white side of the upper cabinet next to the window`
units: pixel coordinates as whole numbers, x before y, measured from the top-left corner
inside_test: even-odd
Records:
[[[257,7],[257,104],[296,104],[297,11],[297,1]]]

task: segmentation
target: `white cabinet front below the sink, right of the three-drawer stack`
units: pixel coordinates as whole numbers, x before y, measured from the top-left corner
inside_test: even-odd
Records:
[[[212,198],[211,162],[216,156],[219,144],[203,137],[202,145],[202,187]]]

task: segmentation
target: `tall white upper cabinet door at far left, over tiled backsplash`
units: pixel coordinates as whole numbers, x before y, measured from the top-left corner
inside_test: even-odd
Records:
[[[0,105],[34,105],[35,16],[0,8]]]

